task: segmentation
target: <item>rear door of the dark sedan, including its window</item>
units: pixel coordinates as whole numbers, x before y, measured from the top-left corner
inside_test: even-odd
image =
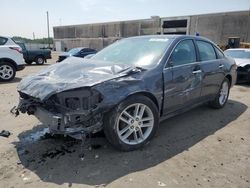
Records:
[[[202,40],[197,40],[196,44],[203,72],[201,96],[206,98],[218,93],[224,79],[224,64],[213,44]]]

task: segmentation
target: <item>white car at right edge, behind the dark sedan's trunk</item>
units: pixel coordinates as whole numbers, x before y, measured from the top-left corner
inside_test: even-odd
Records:
[[[250,83],[250,49],[233,48],[224,52],[227,56],[234,58],[237,68],[237,82]]]

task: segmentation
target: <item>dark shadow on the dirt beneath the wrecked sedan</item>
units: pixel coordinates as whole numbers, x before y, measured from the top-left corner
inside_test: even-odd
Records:
[[[92,144],[100,144],[100,147],[86,149],[84,160],[79,158],[79,142],[50,137],[37,140],[39,135],[44,134],[42,126],[21,133],[20,141],[14,144],[22,165],[44,182],[58,185],[109,184],[188,150],[237,119],[246,109],[246,105],[232,100],[221,110],[200,106],[162,122],[151,143],[133,152],[119,152],[104,137],[96,137],[92,139]]]

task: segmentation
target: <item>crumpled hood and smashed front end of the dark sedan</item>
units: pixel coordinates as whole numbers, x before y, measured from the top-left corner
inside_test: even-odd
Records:
[[[19,111],[34,115],[55,134],[79,138],[79,133],[100,131],[103,115],[144,86],[130,77],[141,72],[122,64],[98,66],[68,58],[19,83],[16,115]]]

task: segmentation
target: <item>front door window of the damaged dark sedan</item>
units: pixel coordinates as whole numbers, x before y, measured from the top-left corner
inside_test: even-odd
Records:
[[[196,62],[196,53],[193,41],[181,41],[172,52],[171,61],[174,66]]]

